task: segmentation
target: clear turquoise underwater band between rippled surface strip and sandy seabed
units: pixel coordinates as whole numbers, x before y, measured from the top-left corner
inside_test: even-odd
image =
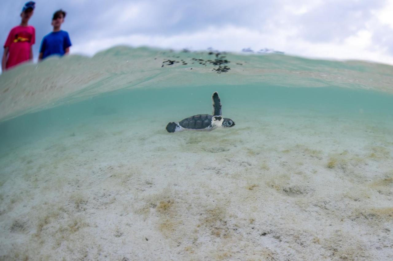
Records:
[[[236,122],[242,121],[242,115],[262,118],[264,114],[282,112],[393,122],[393,94],[387,92],[334,85],[317,88],[283,87],[271,83],[184,85],[184,88],[145,87],[111,91],[4,121],[0,129],[2,153],[15,148],[16,144],[33,142],[35,137],[45,138],[51,129],[67,129],[90,118],[100,121],[100,116],[103,129],[105,117],[117,116],[136,125],[140,118],[149,118],[157,123],[155,130],[164,131],[169,121],[180,121],[195,114],[212,114],[211,94],[214,91],[221,96],[224,116],[231,118],[231,113],[236,112],[237,119],[233,119]],[[243,127],[252,126],[252,121],[243,123]]]

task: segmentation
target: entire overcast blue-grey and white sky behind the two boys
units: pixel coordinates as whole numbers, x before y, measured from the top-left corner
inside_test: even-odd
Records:
[[[0,0],[0,41],[26,0]],[[313,58],[393,64],[393,0],[37,0],[29,24],[34,57],[57,9],[71,53],[127,44],[241,51],[264,48]]]

